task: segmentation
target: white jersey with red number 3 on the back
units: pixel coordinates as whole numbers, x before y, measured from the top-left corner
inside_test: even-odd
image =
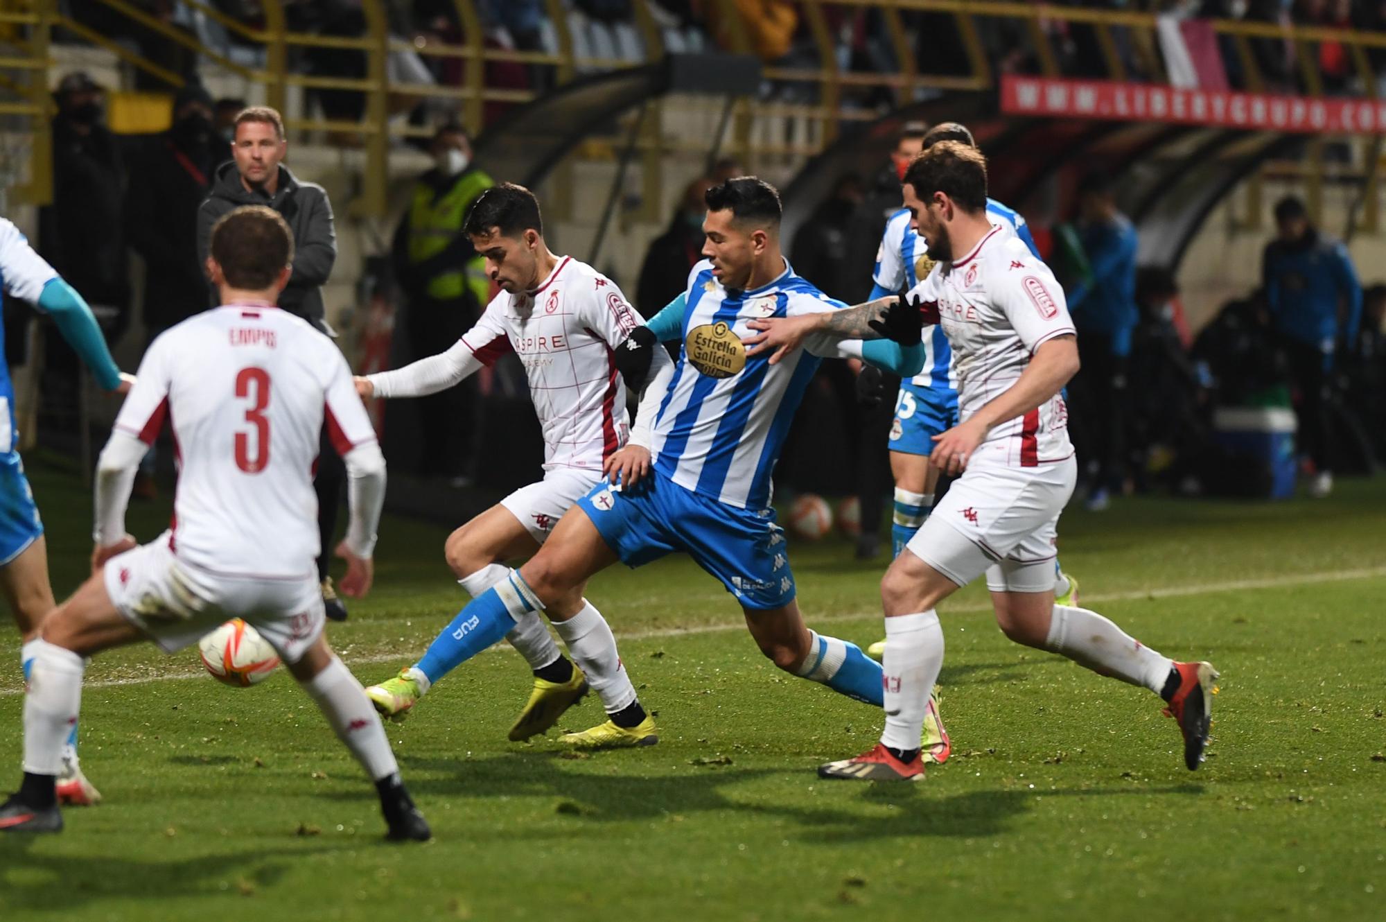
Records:
[[[152,444],[165,416],[179,459],[179,560],[219,574],[316,578],[312,481],[323,423],[342,455],[376,441],[333,341],[267,305],[188,318],[144,354],[115,428]]]

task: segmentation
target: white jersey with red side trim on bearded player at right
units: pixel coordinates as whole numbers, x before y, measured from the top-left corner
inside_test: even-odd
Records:
[[[911,291],[937,302],[954,349],[958,412],[966,420],[1010,390],[1030,356],[1059,336],[1076,336],[1063,288],[1015,234],[992,227],[962,259],[940,262]],[[1017,467],[1073,455],[1069,410],[1055,394],[1037,409],[991,430],[985,445]]]

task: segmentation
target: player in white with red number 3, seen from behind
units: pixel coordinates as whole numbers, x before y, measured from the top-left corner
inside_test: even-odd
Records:
[[[54,781],[85,657],[141,636],[179,650],[240,617],[274,646],[370,774],[388,836],[430,837],[380,717],[323,636],[312,469],[324,419],[349,473],[351,525],[337,548],[346,595],[370,588],[385,459],[341,352],[274,306],[292,251],[277,212],[227,214],[208,256],[222,306],[179,323],[146,352],[97,466],[91,578],[39,627],[24,702],[24,782],[0,806],[0,829],[62,829]],[[165,419],[180,456],[175,520],[136,546],[125,507]]]

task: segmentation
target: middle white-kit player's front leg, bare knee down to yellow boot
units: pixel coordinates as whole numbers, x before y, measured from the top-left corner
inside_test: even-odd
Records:
[[[477,598],[510,574],[506,560],[532,556],[539,542],[506,506],[492,506],[448,537],[444,553],[457,584]],[[579,593],[581,596],[581,593]],[[546,732],[588,693],[588,682],[559,652],[539,614],[527,614],[506,635],[534,672],[529,700],[510,728],[511,740]]]

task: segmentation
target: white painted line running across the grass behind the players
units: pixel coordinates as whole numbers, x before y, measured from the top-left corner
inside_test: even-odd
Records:
[[[1231,580],[1227,582],[1209,582],[1202,585],[1185,585],[1185,586],[1171,586],[1167,589],[1131,589],[1127,592],[1094,592],[1092,595],[1084,595],[1084,603],[1102,603],[1102,602],[1132,602],[1139,599],[1171,599],[1179,596],[1191,595],[1206,595],[1214,592],[1238,592],[1242,589],[1274,589],[1278,586],[1299,586],[1299,585],[1313,585],[1317,582],[1346,582],[1349,580],[1371,580],[1374,577],[1386,577],[1386,567],[1362,567],[1360,570],[1333,570],[1329,573],[1304,573],[1299,575],[1286,577],[1270,577],[1264,580]],[[969,604],[959,607],[949,607],[949,613],[955,611],[991,611],[991,606],[984,604]],[[875,611],[851,611],[839,614],[819,614],[809,618],[814,624],[821,624],[825,621],[852,621],[859,618],[869,618]],[[371,621],[388,621],[388,618],[370,618],[363,620],[359,624],[369,624]],[[675,638],[693,634],[721,634],[723,631],[743,631],[744,625],[740,623],[728,624],[699,624],[689,628],[653,628],[647,631],[626,631],[620,635],[621,641],[651,641],[658,638]],[[505,645],[496,645],[489,647],[486,652],[506,650]],[[349,660],[349,666],[377,666],[380,663],[398,663],[399,660],[412,656],[407,652],[399,650],[392,653],[370,653],[367,656],[353,656]],[[100,679],[96,682],[86,682],[83,688],[119,688],[122,685],[148,685],[150,682],[175,682],[183,679],[195,679],[207,675],[205,670],[197,671],[182,671],[182,672],[166,672],[164,675],[141,675],[137,678],[125,679]],[[0,697],[7,697],[12,695],[22,695],[24,689],[6,688],[0,689]]]

